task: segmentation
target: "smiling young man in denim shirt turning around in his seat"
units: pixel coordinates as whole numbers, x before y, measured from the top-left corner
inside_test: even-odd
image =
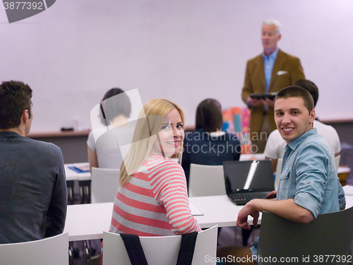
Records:
[[[330,146],[313,128],[315,115],[313,98],[304,88],[289,86],[277,94],[275,122],[287,142],[278,190],[268,194],[268,197],[277,195],[277,198],[249,201],[239,212],[237,226],[249,230],[248,216],[253,217],[253,225],[257,226],[259,212],[262,211],[296,223],[309,223],[319,213],[345,208],[345,194],[337,177]],[[227,257],[227,254],[257,256],[258,239],[251,249],[225,247],[217,254],[218,257]]]

